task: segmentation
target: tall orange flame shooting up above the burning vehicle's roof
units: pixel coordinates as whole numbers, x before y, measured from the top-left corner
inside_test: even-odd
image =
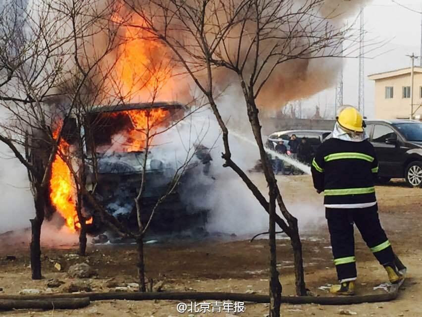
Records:
[[[124,32],[115,64],[119,94],[126,100],[138,102],[171,100],[171,66],[165,47],[151,39],[141,17],[132,16],[130,25],[126,26],[120,16],[113,15],[112,20],[121,23]]]

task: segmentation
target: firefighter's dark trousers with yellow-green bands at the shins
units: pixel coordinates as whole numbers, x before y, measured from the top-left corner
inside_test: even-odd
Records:
[[[356,209],[326,208],[325,217],[340,281],[354,280],[357,276],[354,223],[379,264],[394,262],[393,249],[379,222],[377,205]]]

